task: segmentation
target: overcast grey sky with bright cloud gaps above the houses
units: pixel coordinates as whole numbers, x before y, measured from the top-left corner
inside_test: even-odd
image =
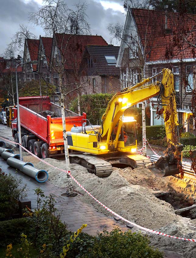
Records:
[[[79,0],[65,0],[69,8]],[[120,22],[124,24],[125,15],[123,1],[121,0],[86,0],[87,15],[91,26],[92,35],[101,35],[110,43],[110,34],[106,27],[110,23]],[[39,27],[33,27],[29,23],[29,12],[37,12],[42,4],[42,0],[0,0],[0,55],[4,53],[7,44],[11,42],[12,35],[19,29],[19,24],[28,26],[30,32],[38,37],[45,36]],[[80,3],[83,3],[80,0]],[[116,42],[113,42],[114,45]]]

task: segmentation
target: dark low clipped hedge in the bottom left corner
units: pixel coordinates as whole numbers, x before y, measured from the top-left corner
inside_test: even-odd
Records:
[[[34,222],[32,219],[20,218],[0,222],[0,246],[20,242],[20,234],[31,236]]]

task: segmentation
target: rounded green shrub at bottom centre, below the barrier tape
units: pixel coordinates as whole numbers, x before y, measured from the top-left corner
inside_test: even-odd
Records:
[[[123,233],[114,229],[110,233],[100,233],[93,246],[89,246],[85,253],[81,250],[77,258],[163,258],[162,253],[149,243],[149,238],[141,233]]]

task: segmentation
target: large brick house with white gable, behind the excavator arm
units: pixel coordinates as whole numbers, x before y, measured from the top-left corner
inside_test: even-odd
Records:
[[[195,25],[196,15],[183,18],[187,29]],[[163,68],[173,71],[176,90],[179,123],[186,131],[193,129],[191,118],[191,92],[195,85],[196,59],[194,48],[177,37],[180,22],[178,13],[158,12],[147,9],[128,8],[123,39],[117,59],[121,69],[121,87],[137,83],[144,77],[150,77]],[[195,41],[195,37],[193,37]],[[178,46],[177,46],[178,42]],[[194,42],[195,44],[195,42]],[[156,78],[160,80],[160,78]],[[156,97],[151,99],[151,125],[161,124],[156,119]]]

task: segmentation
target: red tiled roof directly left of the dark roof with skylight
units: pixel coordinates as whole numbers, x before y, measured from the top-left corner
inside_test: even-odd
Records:
[[[70,35],[70,34],[55,34],[57,46],[62,51],[65,51],[65,69],[74,69],[79,67],[82,61],[82,55],[87,45],[107,46],[108,43],[102,36],[92,35]],[[66,49],[65,49],[66,48]]]

